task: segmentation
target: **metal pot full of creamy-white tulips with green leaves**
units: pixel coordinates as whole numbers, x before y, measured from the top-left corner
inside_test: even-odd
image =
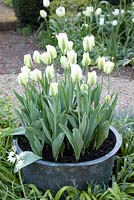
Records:
[[[24,56],[25,66],[18,76],[24,91],[15,92],[20,103],[15,112],[22,127],[5,133],[18,135],[13,139],[16,150],[8,159],[15,163],[15,172],[22,168],[25,183],[42,190],[108,184],[121,145],[119,133],[110,126],[117,102],[117,94],[111,95],[109,87],[114,63],[105,57],[97,59],[97,67],[108,75],[108,93],[101,99],[103,76],[97,80],[95,71],[88,72],[94,36],[83,39],[83,70],[67,34],[59,33],[57,39],[60,56],[52,45],[42,54],[34,51],[33,59]],[[62,75],[52,64],[57,58]]]

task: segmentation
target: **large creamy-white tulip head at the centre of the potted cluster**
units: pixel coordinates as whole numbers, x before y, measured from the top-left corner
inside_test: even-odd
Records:
[[[71,65],[71,78],[73,82],[79,82],[82,79],[82,70],[78,64]]]

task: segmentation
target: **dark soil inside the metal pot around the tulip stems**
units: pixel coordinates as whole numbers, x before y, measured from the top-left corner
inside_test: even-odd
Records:
[[[21,136],[18,143],[23,151],[31,151],[30,144],[25,136]],[[108,138],[104,141],[104,143],[98,150],[93,150],[93,144],[91,144],[89,148],[87,149],[87,151],[85,152],[85,154],[81,156],[81,159],[79,159],[79,161],[76,161],[74,152],[70,148],[70,149],[64,150],[62,157],[59,156],[57,162],[58,163],[77,163],[77,162],[79,163],[79,162],[95,160],[109,153],[113,149],[114,146],[115,146],[115,142],[112,139],[111,135],[109,134]],[[45,161],[55,162],[53,159],[51,147],[48,145],[44,146],[42,157],[43,157],[43,160]]]

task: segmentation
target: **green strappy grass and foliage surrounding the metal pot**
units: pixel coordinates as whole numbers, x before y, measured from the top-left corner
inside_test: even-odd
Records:
[[[111,186],[101,188],[90,185],[87,190],[80,191],[72,186],[64,186],[57,194],[52,191],[40,192],[32,184],[24,184],[26,197],[24,198],[22,185],[18,174],[14,174],[14,166],[7,161],[8,152],[11,150],[12,138],[1,138],[3,128],[14,126],[12,104],[6,99],[0,101],[0,200],[132,200],[134,197],[134,119],[133,115],[119,115],[115,117],[113,125],[123,137],[123,143],[117,155],[112,176]],[[7,109],[8,108],[8,109]],[[7,116],[7,118],[5,118]],[[3,125],[2,125],[3,124]]]

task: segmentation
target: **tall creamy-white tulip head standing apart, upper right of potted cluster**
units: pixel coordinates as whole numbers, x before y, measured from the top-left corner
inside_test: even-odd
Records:
[[[83,48],[84,51],[91,51],[93,49],[93,47],[95,46],[95,39],[94,36],[86,36],[83,39]]]

